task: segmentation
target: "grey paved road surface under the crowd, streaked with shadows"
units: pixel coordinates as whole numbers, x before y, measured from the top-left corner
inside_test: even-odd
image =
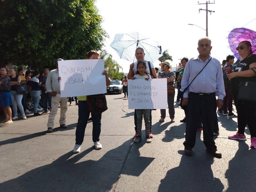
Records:
[[[218,115],[220,136],[215,142],[222,158],[205,151],[203,131],[197,131],[193,156],[186,156],[186,124],[179,121],[184,112],[178,105],[175,123],[169,116],[158,122],[160,110],[152,111],[152,142],[143,137],[133,143],[134,110],[123,96],[107,95],[100,150],[93,147],[88,122],[81,152],[72,152],[76,105],[68,106],[68,129],[59,128],[60,110],[52,133],[46,132],[48,115],[1,124],[0,191],[256,191],[256,149],[249,148],[250,139],[228,140],[237,130],[236,118]],[[145,134],[144,125],[142,129]],[[250,138],[247,128],[245,133]]]

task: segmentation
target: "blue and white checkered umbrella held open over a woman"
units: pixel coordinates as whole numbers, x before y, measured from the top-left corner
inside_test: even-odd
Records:
[[[135,51],[143,48],[146,61],[154,62],[162,56],[162,48],[157,41],[147,38],[137,32],[116,34],[110,46],[118,53],[121,59],[136,61]]]

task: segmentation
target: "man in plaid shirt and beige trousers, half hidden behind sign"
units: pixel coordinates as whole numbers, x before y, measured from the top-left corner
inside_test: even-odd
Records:
[[[47,132],[52,132],[54,125],[54,118],[57,114],[58,107],[60,104],[60,127],[68,128],[66,123],[66,112],[68,110],[68,97],[60,97],[60,83],[59,83],[59,70],[58,61],[63,61],[63,59],[57,60],[57,69],[50,71],[46,80],[46,90],[52,95],[52,109],[49,115],[47,127]]]

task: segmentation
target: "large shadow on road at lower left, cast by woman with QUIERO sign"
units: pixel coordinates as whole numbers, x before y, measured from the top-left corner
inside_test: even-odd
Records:
[[[81,159],[94,147],[75,155],[72,151],[51,164],[0,183],[1,191],[111,191],[118,180],[131,140],[108,151],[98,161]],[[126,150],[125,150],[126,149]]]

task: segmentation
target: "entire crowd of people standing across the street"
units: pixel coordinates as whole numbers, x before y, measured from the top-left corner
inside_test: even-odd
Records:
[[[238,131],[229,136],[233,140],[246,140],[244,129],[246,125],[251,134],[251,148],[256,148],[256,102],[238,98],[239,85],[244,79],[250,78],[250,81],[256,81],[256,55],[252,54],[252,45],[249,41],[239,43],[236,50],[241,59],[234,63],[234,56],[228,55],[226,60],[220,61],[210,55],[212,50],[211,40],[208,37],[199,39],[197,50],[199,55],[195,58],[181,59],[182,67],[178,68],[176,74],[172,71],[170,63],[164,61],[159,64],[161,71],[155,68],[153,63],[144,60],[144,50],[138,47],[135,50],[137,62],[130,65],[127,77],[122,82],[124,90],[124,98],[128,97],[128,81],[127,79],[145,79],[166,78],[167,80],[167,104],[171,123],[175,122],[174,115],[174,81],[177,81],[178,94],[176,104],[180,104],[184,110],[185,117],[180,122],[186,123],[186,136],[184,145],[184,153],[186,155],[193,154],[193,148],[196,142],[196,131],[203,130],[204,145],[206,151],[213,156],[221,157],[221,153],[217,150],[213,140],[214,135],[219,135],[218,117],[219,115],[237,118]],[[100,59],[100,54],[96,51],[89,51],[86,59]],[[34,116],[48,113],[49,114],[47,132],[53,131],[54,118],[57,114],[60,104],[60,127],[67,128],[66,111],[67,103],[71,105],[71,100],[67,97],[60,96],[61,77],[57,68],[49,71],[44,69],[44,73],[39,71],[26,72],[23,76],[23,69],[18,70],[18,74],[14,68],[10,69],[7,74],[5,67],[0,68],[0,106],[4,109],[4,124],[12,123],[13,119],[18,118],[17,107],[20,110],[23,119],[26,119],[25,113],[27,109],[22,106],[22,98],[26,100],[24,94],[17,94],[15,86],[21,82],[27,83],[28,90],[34,100]],[[233,64],[234,63],[234,64]],[[23,72],[22,72],[23,71]],[[109,86],[110,80],[107,71],[103,71],[102,75],[106,77],[106,85]],[[104,82],[105,83],[105,82]],[[41,94],[40,94],[41,93]],[[218,99],[216,99],[216,97]],[[40,98],[44,112],[39,114]],[[90,116],[88,110],[87,96],[77,97],[76,105],[78,105],[78,123],[76,127],[76,143],[73,149],[74,153],[79,153],[84,140],[84,132],[87,121]],[[237,116],[232,112],[232,102],[234,100]],[[12,105],[12,110],[10,106]],[[25,110],[25,111],[24,111]],[[40,110],[40,109],[39,109]],[[142,119],[144,118],[146,129],[146,142],[150,143],[153,138],[152,134],[152,110],[154,109],[135,109],[134,125],[135,135],[134,142],[142,140]],[[217,113],[216,113],[217,111]],[[166,110],[160,110],[161,116],[159,122],[164,122],[166,118]],[[100,130],[101,130],[101,113],[91,114],[92,117],[92,141],[96,149],[101,149]]]

